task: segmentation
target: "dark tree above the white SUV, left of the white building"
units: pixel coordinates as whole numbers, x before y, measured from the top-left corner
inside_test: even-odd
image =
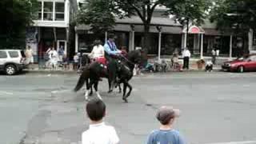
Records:
[[[25,46],[26,26],[32,24],[37,0],[0,1],[0,49]]]

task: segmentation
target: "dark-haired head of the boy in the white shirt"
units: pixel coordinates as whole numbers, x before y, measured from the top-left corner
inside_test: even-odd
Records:
[[[87,103],[86,112],[90,120],[100,121],[105,116],[106,105],[102,100],[93,98]]]

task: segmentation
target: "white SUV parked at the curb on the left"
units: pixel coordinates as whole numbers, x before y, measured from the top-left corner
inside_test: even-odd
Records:
[[[8,75],[17,74],[26,68],[26,57],[22,50],[0,50],[0,71]]]

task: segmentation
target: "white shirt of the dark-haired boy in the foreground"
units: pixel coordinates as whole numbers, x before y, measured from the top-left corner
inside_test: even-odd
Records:
[[[82,144],[118,144],[118,134],[113,126],[104,122],[90,125],[89,130],[82,133]]]

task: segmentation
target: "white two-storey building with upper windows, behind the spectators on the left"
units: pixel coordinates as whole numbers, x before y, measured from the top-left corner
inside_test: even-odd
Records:
[[[34,50],[34,62],[46,59],[50,47],[58,50],[63,46],[68,54],[70,1],[38,0],[38,6],[34,26],[26,30],[26,45]]]

